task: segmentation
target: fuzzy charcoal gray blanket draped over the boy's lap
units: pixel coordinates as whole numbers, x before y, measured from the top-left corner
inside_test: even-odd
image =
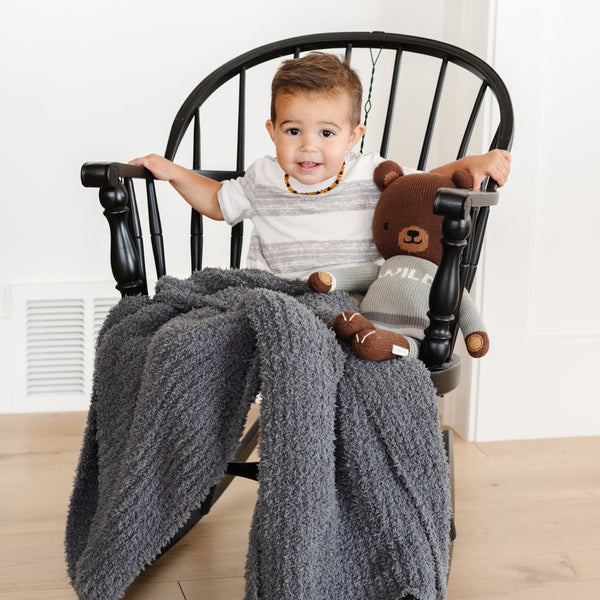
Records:
[[[219,480],[260,390],[246,600],[446,597],[450,500],[424,366],[330,328],[344,293],[252,270],[165,277],[100,333],[66,530],[82,600],[114,600]]]

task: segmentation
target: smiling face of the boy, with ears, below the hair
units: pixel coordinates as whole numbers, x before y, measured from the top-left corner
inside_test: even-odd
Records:
[[[277,122],[267,121],[267,130],[281,168],[305,185],[333,179],[365,133],[350,123],[350,109],[346,94],[279,94]]]

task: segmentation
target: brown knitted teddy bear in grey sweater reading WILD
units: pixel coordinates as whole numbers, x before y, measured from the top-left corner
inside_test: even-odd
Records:
[[[352,340],[354,353],[366,360],[417,356],[427,317],[429,291],[442,257],[442,217],[433,212],[441,187],[470,189],[468,171],[452,178],[435,173],[404,175],[393,161],[381,163],[374,180],[382,191],[373,216],[373,239],[385,262],[360,304],[360,312],[345,311],[334,319],[334,330]],[[335,277],[317,271],[309,277],[316,292],[335,288]],[[486,354],[489,339],[472,299],[465,291],[458,324],[473,357]]]

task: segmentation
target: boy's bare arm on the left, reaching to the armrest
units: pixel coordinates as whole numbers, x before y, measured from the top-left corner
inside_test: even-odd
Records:
[[[194,173],[157,154],[136,158],[130,164],[146,167],[156,179],[168,181],[199,213],[217,221],[223,220],[217,196],[221,189],[219,181]]]

